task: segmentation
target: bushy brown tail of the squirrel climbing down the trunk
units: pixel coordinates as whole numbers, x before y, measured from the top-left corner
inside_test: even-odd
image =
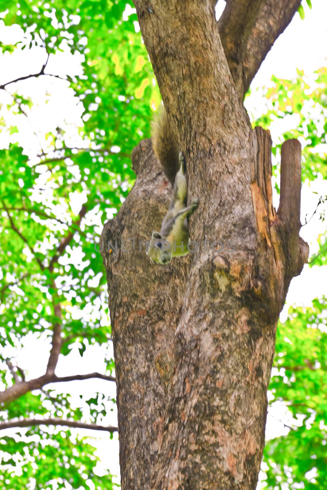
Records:
[[[179,149],[164,107],[161,107],[153,118],[151,136],[154,154],[174,187],[176,173],[180,167]]]

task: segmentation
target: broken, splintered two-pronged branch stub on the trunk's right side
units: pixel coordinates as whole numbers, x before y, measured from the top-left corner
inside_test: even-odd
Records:
[[[299,236],[301,202],[301,144],[288,140],[281,147],[280,202],[272,200],[271,137],[255,127],[251,134],[251,192],[256,220],[256,276],[264,287],[267,309],[278,317],[290,281],[307,262],[309,247]]]

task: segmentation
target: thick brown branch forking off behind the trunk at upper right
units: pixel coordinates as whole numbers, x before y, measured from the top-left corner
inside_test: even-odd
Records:
[[[229,0],[218,21],[220,38],[238,95],[243,100],[277,37],[301,0]]]

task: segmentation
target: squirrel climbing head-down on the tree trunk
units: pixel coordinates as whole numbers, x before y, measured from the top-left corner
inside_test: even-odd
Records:
[[[160,233],[152,232],[147,255],[152,262],[169,264],[172,257],[182,257],[189,253],[189,230],[187,217],[198,207],[199,199],[187,206],[187,183],[185,162],[179,151],[164,108],[156,115],[151,125],[152,147],[166,177],[173,186],[170,208],[162,222]]]

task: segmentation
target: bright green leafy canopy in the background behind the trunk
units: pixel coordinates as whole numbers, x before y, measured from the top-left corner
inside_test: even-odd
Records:
[[[96,244],[101,223],[117,212],[133,184],[130,154],[140,139],[149,137],[152,109],[160,102],[134,12],[129,1],[51,0],[7,1],[0,14],[4,32],[9,26],[21,28],[0,43],[2,60],[10,58],[15,65],[22,51],[40,60],[34,77],[6,84],[11,79],[4,73],[0,82],[2,389],[29,379],[25,367],[15,365],[26,337],[40,338],[44,348],[57,325],[63,337],[61,356],[69,355],[74,345],[81,356],[92,345],[108,346],[103,374],[114,371]],[[61,66],[60,56],[71,56],[72,66],[77,56],[80,71],[67,63]],[[61,70],[52,71],[51,63]],[[22,70],[17,78],[30,74]],[[36,87],[33,95],[28,82]],[[70,121],[67,109],[57,127],[48,130],[45,118],[48,129],[43,129],[35,114],[58,93],[73,100],[79,116]],[[326,178],[326,154],[319,150],[326,143],[326,70],[312,82],[301,72],[295,80],[273,78],[262,96],[267,107],[262,115],[262,106],[260,113],[252,106],[255,124],[268,128],[276,118],[296,115],[293,129],[276,142],[275,155],[283,139],[302,138],[303,178],[312,180],[318,172]],[[26,123],[32,141],[24,140]],[[323,250],[326,236],[320,240]],[[317,263],[323,264],[323,258]],[[321,487],[327,479],[324,310],[326,300],[317,300],[310,309],[292,310],[278,328],[272,403],[284,401],[300,422],[287,436],[267,444],[269,488],[299,488],[295,484],[303,481],[305,488]],[[112,409],[114,400],[100,392],[76,408],[70,394],[58,393],[54,386],[7,403],[1,419],[61,417],[101,423]],[[96,469],[92,439],[74,429],[32,426],[0,433],[0,442],[0,487],[113,488],[111,475]],[[318,476],[308,482],[305,472],[312,468]]]

